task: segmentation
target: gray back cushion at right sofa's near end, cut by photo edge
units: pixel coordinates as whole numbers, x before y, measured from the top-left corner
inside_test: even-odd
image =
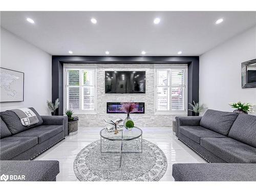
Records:
[[[228,137],[256,147],[256,116],[240,114],[234,121]]]

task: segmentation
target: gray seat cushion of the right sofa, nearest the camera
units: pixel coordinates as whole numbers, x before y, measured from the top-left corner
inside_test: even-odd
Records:
[[[200,145],[228,163],[256,163],[256,148],[232,138],[201,138]]]

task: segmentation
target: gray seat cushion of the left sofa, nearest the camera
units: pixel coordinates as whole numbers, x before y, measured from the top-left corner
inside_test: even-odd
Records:
[[[13,157],[35,146],[37,137],[6,137],[0,140],[1,160],[10,160]]]

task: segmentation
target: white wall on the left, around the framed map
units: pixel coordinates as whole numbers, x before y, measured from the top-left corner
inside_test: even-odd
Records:
[[[0,103],[1,111],[33,106],[49,114],[46,100],[52,95],[51,55],[1,28],[1,67],[24,72],[24,102]]]

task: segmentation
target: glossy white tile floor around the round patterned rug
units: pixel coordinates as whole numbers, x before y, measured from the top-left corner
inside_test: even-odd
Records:
[[[73,171],[76,155],[91,142],[100,138],[101,127],[79,127],[78,134],[68,136],[35,160],[58,160],[60,173],[57,181],[78,181]],[[160,181],[173,181],[172,165],[174,163],[206,163],[200,156],[177,140],[170,127],[141,127],[143,139],[157,144],[166,155],[168,167]]]

